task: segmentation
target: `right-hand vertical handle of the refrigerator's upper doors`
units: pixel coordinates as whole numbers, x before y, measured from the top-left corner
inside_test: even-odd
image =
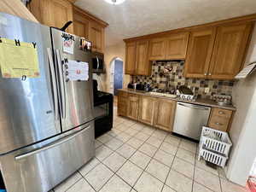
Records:
[[[63,75],[63,65],[61,62],[61,54],[60,50],[56,49],[56,56],[57,56],[57,67],[59,71],[59,78],[60,78],[60,87],[61,87],[61,116],[62,119],[66,119],[66,90],[65,90],[65,79]]]

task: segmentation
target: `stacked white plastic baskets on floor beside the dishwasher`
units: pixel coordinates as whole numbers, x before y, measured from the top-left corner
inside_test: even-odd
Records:
[[[232,143],[227,132],[203,126],[199,144],[198,160],[201,157],[217,166],[224,167],[229,158]]]

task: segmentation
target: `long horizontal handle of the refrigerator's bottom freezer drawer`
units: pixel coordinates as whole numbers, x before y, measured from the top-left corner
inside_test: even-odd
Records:
[[[54,147],[56,147],[58,145],[61,145],[62,143],[67,143],[68,141],[70,141],[74,137],[77,137],[80,134],[82,134],[84,131],[87,131],[89,127],[90,127],[90,125],[84,127],[84,129],[82,129],[80,131],[77,131],[77,132],[73,133],[71,136],[61,138],[59,141],[55,141],[53,143],[49,143],[49,144],[47,144],[46,146],[44,146],[42,148],[37,148],[37,149],[34,149],[34,150],[32,150],[30,152],[27,152],[25,154],[17,155],[17,156],[15,156],[15,160],[22,160],[22,159],[24,159],[26,157],[29,157],[29,156],[33,155],[33,154],[39,154],[39,153],[41,153],[41,152],[43,152],[45,150],[48,150],[49,148],[54,148]]]

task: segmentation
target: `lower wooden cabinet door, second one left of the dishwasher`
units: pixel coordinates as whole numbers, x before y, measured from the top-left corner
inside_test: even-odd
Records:
[[[151,96],[139,97],[139,114],[138,114],[139,121],[148,125],[153,125],[154,101],[155,101],[155,98]]]

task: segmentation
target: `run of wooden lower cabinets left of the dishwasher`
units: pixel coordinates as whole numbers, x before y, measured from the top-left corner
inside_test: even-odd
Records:
[[[154,96],[139,96],[119,90],[118,115],[172,131],[176,102]]]

